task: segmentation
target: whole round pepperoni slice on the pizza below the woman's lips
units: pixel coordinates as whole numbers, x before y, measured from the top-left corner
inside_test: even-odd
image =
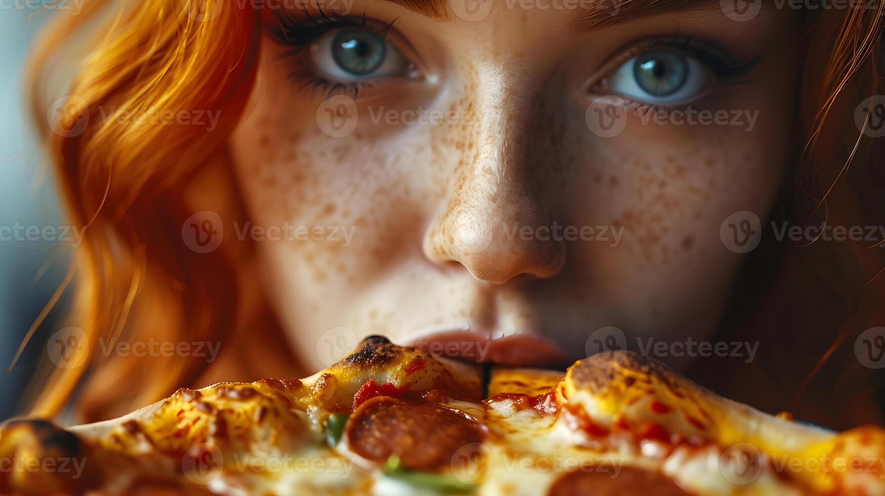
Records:
[[[479,443],[479,422],[455,411],[378,396],[350,415],[344,430],[350,450],[372,461],[398,456],[406,469],[433,470],[451,463],[462,446]]]

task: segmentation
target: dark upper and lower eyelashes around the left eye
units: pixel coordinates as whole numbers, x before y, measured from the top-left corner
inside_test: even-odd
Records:
[[[281,54],[280,58],[282,59],[294,60],[298,58],[302,50],[309,47],[311,43],[316,42],[322,35],[334,29],[355,27],[372,31],[382,38],[387,38],[390,28],[396,22],[396,19],[394,19],[389,24],[379,26],[377,23],[370,22],[366,18],[365,12],[361,18],[342,17],[335,13],[330,17],[322,10],[319,10],[319,17],[312,16],[306,9],[303,9],[303,12],[305,19],[297,19],[291,15],[281,14],[274,16],[273,19],[277,21],[276,23],[268,23],[265,27],[268,36],[274,43],[291,47]],[[295,66],[297,67],[298,65],[295,64]],[[372,80],[332,81],[317,74],[316,71],[304,67],[298,67],[292,71],[289,74],[289,79],[309,89],[311,92],[321,91],[325,97],[351,94],[352,97],[356,98],[360,89],[374,86]]]

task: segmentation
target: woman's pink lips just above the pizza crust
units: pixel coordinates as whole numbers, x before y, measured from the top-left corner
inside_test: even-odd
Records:
[[[424,353],[476,363],[551,368],[569,365],[566,355],[556,346],[531,334],[489,338],[471,330],[450,330],[418,337],[410,345]]]

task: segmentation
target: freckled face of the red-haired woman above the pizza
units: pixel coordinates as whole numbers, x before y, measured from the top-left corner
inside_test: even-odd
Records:
[[[720,228],[792,151],[797,12],[348,1],[268,16],[232,143],[305,366],[371,334],[539,366],[611,326],[710,337],[743,257]]]

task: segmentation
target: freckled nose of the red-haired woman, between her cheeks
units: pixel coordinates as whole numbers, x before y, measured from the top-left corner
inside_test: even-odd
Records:
[[[476,114],[444,213],[427,230],[423,249],[441,264],[458,263],[481,281],[521,274],[556,275],[565,263],[561,240],[549,235],[550,213],[530,167],[532,106],[519,91],[484,88],[494,97]],[[524,91],[522,92],[524,93]],[[481,98],[480,98],[481,99]],[[506,102],[506,105],[504,105]]]

